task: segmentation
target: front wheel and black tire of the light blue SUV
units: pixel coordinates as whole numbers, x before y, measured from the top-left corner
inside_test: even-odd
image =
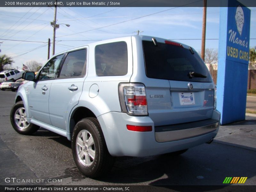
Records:
[[[22,113],[20,114],[20,110]],[[15,118],[15,115],[20,115],[20,118]],[[23,135],[30,135],[36,132],[40,127],[35,124],[28,124],[26,120],[26,111],[23,101],[15,103],[10,114],[11,124],[13,129]],[[18,125],[20,123],[20,126]]]

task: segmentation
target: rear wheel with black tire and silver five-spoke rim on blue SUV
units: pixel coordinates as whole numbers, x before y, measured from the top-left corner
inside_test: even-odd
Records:
[[[85,138],[82,138],[83,133]],[[88,137],[89,139],[92,137],[93,145],[89,144],[91,140],[87,140]],[[82,142],[81,145],[77,144],[79,141]],[[110,171],[115,158],[108,152],[100,124],[96,118],[87,117],[77,122],[71,142],[76,166],[85,176],[96,178]],[[91,154],[93,155],[92,151],[94,151],[94,158],[91,156]],[[82,153],[81,157],[78,155],[80,153]],[[88,158],[87,162],[86,157]]]

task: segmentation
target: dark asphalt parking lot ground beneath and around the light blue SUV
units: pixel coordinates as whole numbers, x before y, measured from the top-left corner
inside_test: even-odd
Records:
[[[93,180],[76,168],[67,138],[43,128],[32,136],[13,130],[15,95],[0,91],[0,185],[223,185],[226,177],[248,177],[243,185],[256,185],[256,117],[220,126],[211,144],[180,156],[117,157],[107,176]],[[11,177],[30,183],[8,182]]]

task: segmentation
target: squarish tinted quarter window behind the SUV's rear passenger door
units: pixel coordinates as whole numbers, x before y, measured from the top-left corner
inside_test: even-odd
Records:
[[[124,41],[101,44],[95,47],[97,76],[121,76],[127,74],[127,44]]]

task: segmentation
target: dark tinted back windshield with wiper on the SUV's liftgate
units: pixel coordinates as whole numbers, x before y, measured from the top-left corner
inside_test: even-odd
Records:
[[[189,49],[171,44],[142,41],[146,74],[150,78],[175,81],[212,82],[203,60]],[[189,77],[190,72],[200,73],[206,78]]]

